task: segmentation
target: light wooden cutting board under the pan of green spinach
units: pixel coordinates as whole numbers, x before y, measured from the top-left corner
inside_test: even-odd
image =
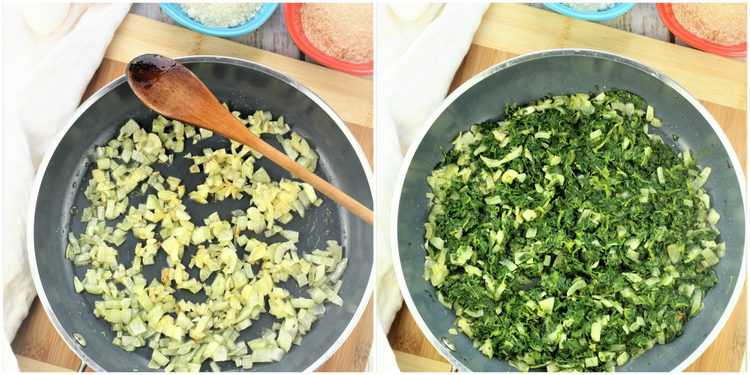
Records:
[[[731,140],[743,169],[746,169],[747,76],[743,61],[524,5],[495,4],[485,14],[451,90],[503,60],[551,48],[609,51],[640,61],[673,78],[708,108]],[[746,312],[747,300],[743,290],[719,337],[687,370],[739,371],[745,357]],[[406,307],[396,316],[388,338],[404,371],[447,371],[451,368],[421,333]]]

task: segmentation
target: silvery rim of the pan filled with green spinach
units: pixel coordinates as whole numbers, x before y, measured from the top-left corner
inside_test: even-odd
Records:
[[[442,104],[432,112],[430,117],[427,119],[427,121],[422,125],[422,128],[418,131],[418,136],[416,138],[416,141],[411,144],[409,147],[406,155],[404,156],[403,161],[401,162],[401,166],[399,168],[399,172],[396,178],[396,188],[394,190],[393,196],[391,197],[391,206],[390,206],[390,217],[389,217],[389,223],[387,224],[390,229],[390,239],[389,244],[391,247],[391,258],[393,261],[393,267],[396,274],[396,279],[398,279],[398,285],[401,291],[401,295],[404,298],[404,301],[406,302],[406,305],[409,309],[409,312],[411,312],[412,316],[414,317],[414,320],[417,323],[417,326],[422,331],[422,334],[427,337],[428,341],[432,344],[432,346],[445,358],[448,360],[448,362],[451,363],[454,367],[458,369],[458,371],[461,372],[468,372],[472,371],[468,366],[464,365],[463,362],[459,361],[451,352],[448,350],[445,345],[442,345],[441,341],[438,339],[437,336],[430,330],[430,327],[427,325],[427,323],[422,319],[422,316],[417,309],[416,303],[411,298],[411,294],[409,293],[408,284],[406,283],[406,278],[404,276],[403,269],[401,267],[401,257],[400,257],[400,251],[399,251],[399,245],[398,245],[398,217],[399,217],[399,206],[401,203],[401,195],[403,193],[404,183],[406,181],[406,175],[411,167],[412,161],[414,159],[414,155],[417,152],[417,149],[419,148],[419,145],[424,140],[424,137],[427,135],[429,130],[432,128],[432,125],[435,123],[435,121],[440,117],[440,115],[443,114],[443,112],[450,107],[451,104],[453,104],[456,99],[458,99],[461,95],[463,95],[466,91],[474,87],[477,83],[481,82],[485,78],[493,75],[497,71],[509,68],[511,66],[521,64],[527,61],[533,61],[537,59],[542,59],[550,56],[589,56],[589,57],[603,57],[607,59],[614,60],[619,63],[623,63],[626,65],[629,65],[633,68],[639,69],[641,71],[644,71],[655,78],[661,80],[665,84],[667,84],[670,88],[675,90],[680,96],[682,96],[685,100],[687,100],[695,109],[703,116],[703,118],[706,120],[706,122],[709,123],[711,128],[714,130],[714,133],[718,136],[719,140],[721,141],[722,146],[724,147],[724,150],[727,152],[729,159],[732,163],[732,168],[735,171],[735,177],[737,178],[739,187],[740,187],[740,198],[742,199],[742,205],[743,205],[743,214],[745,217],[747,217],[748,212],[748,206],[747,201],[745,198],[745,179],[743,177],[743,171],[741,164],[739,162],[739,158],[737,156],[737,153],[734,151],[734,148],[731,145],[731,142],[729,142],[729,138],[727,137],[726,133],[724,133],[724,130],[719,126],[718,122],[714,117],[711,115],[711,113],[690,93],[688,93],[687,90],[685,90],[682,86],[680,86],[676,81],[672,80],[671,78],[667,77],[666,75],[649,68],[646,65],[643,65],[633,59],[624,57],[622,55],[618,55],[611,52],[601,51],[601,50],[595,50],[595,49],[586,49],[586,48],[560,48],[560,49],[547,49],[547,50],[541,50],[541,51],[535,51],[523,55],[519,55],[513,58],[510,58],[508,60],[505,60],[503,62],[500,62],[498,64],[495,64],[480,73],[477,73],[475,76],[461,84],[458,88],[456,88],[450,95],[448,95],[445,100],[443,100]],[[693,362],[695,362],[705,351],[708,349],[708,347],[716,340],[716,337],[719,335],[719,333],[724,328],[724,325],[729,320],[729,317],[734,312],[734,309],[737,305],[737,302],[739,301],[741,291],[745,285],[745,263],[746,263],[746,252],[748,248],[748,234],[750,234],[750,226],[745,226],[745,242],[742,247],[742,264],[740,266],[739,274],[737,275],[737,281],[734,285],[734,290],[732,291],[732,296],[729,299],[729,302],[724,307],[724,311],[722,312],[719,321],[716,323],[716,325],[711,329],[711,332],[703,339],[701,344],[698,346],[698,348],[695,349],[689,356],[687,356],[685,359],[682,360],[677,366],[675,366],[673,369],[664,370],[664,371],[683,371],[686,367],[691,365]]]

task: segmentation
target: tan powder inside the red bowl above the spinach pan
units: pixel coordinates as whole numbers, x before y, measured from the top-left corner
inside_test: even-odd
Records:
[[[672,4],[677,22],[709,41],[733,46],[747,40],[745,4]]]

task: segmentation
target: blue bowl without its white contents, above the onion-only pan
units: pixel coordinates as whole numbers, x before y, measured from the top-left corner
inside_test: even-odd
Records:
[[[175,3],[162,3],[160,4],[161,9],[175,22],[188,29],[197,31],[199,33],[213,35],[213,36],[239,36],[243,34],[255,31],[263,25],[276,10],[278,3],[263,3],[258,12],[244,24],[234,27],[212,27],[206,26],[187,15],[179,4]]]

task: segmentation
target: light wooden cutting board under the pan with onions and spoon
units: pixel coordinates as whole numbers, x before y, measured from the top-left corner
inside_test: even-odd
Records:
[[[117,29],[84,98],[124,73],[130,59],[143,53],[169,57],[221,55],[267,65],[298,80],[318,94],[344,119],[372,165],[372,81],[198,34],[137,15],[128,15]],[[372,344],[372,302],[346,343],[319,371],[362,371]],[[78,370],[81,360],[68,349],[50,323],[39,300],[31,307],[12,344],[21,370]]]

